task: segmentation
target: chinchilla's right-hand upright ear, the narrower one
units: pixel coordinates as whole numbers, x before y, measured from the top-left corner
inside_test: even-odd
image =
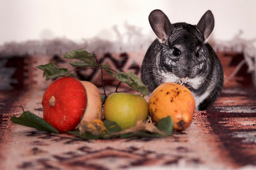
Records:
[[[213,13],[210,10],[206,11],[196,26],[201,30],[206,40],[214,28]]]

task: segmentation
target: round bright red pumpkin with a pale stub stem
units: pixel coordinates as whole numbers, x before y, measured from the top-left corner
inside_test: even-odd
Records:
[[[85,87],[71,77],[53,81],[43,94],[43,118],[59,132],[74,130],[85,112]]]

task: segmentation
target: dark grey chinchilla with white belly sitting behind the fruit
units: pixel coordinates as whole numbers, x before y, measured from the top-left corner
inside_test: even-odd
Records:
[[[192,92],[196,110],[212,104],[223,89],[223,68],[207,38],[214,18],[206,11],[198,24],[171,23],[159,9],[149,14],[157,38],[142,62],[142,81],[149,91],[165,82],[183,83]]]

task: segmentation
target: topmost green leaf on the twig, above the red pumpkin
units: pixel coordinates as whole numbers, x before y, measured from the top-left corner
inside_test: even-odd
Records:
[[[80,60],[82,62],[85,62],[85,64],[78,64],[78,62],[71,62],[71,65],[73,67],[98,67],[99,64],[97,64],[97,61],[95,60],[95,57],[86,50],[72,50],[70,52],[65,53],[64,58],[66,59],[76,59]],[[76,66],[78,64],[79,66]]]

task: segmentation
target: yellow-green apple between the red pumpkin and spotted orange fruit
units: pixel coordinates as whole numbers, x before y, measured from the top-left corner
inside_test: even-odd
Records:
[[[122,130],[146,120],[148,112],[148,103],[139,94],[110,94],[104,105],[105,119],[117,123]]]

